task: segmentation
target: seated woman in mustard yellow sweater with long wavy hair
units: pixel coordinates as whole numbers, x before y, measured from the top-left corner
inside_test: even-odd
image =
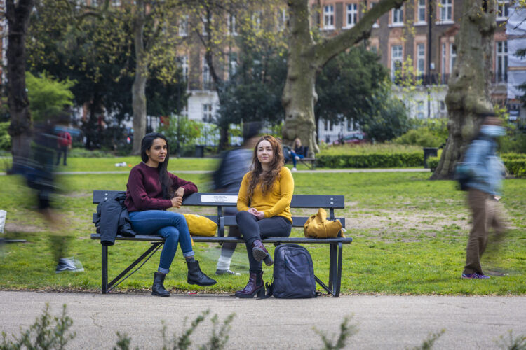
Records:
[[[293,192],[294,179],[290,170],[283,167],[281,143],[269,135],[262,137],[254,148],[251,170],[243,177],[238,194],[236,221],[247,246],[250,278],[236,297],[264,296],[262,262],[270,266],[274,261],[261,240],[290,235]]]

